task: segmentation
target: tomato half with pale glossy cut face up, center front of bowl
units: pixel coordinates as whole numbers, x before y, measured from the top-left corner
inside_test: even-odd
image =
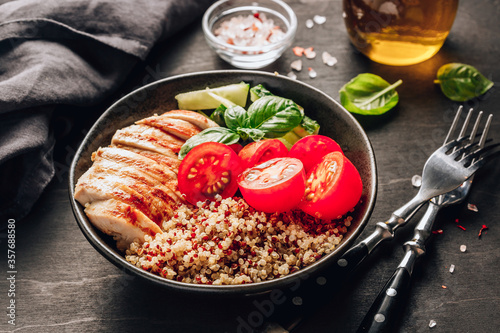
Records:
[[[238,185],[253,208],[266,213],[284,212],[296,207],[304,196],[304,166],[296,158],[273,158],[243,171]]]

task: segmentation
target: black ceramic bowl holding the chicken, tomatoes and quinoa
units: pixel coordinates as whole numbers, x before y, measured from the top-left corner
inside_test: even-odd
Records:
[[[116,130],[154,113],[176,109],[177,102],[174,96],[178,93],[241,81],[250,85],[262,83],[274,94],[293,99],[303,106],[305,113],[320,123],[320,134],[336,140],[344,149],[345,155],[357,167],[363,181],[363,194],[361,202],[356,206],[348,233],[333,252],[314,264],[278,279],[252,284],[229,286],[188,284],[159,277],[130,264],[116,249],[113,239],[94,228],[83,211],[84,207],[73,199],[78,178],[92,165],[90,159],[92,152],[99,147],[109,145]],[[302,82],[271,73],[243,70],[179,75],[149,84],[123,97],[98,119],[87,134],[71,164],[69,178],[70,199],[78,225],[94,248],[109,261],[126,272],[161,287],[218,295],[246,295],[286,288],[297,279],[316,274],[331,265],[353,244],[367,224],[375,204],[376,190],[375,157],[370,141],[348,111],[328,95]]]

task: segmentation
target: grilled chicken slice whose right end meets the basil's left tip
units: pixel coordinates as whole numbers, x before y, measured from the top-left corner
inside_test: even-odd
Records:
[[[114,145],[145,149],[177,158],[184,140],[147,125],[131,125],[116,131],[111,139]]]

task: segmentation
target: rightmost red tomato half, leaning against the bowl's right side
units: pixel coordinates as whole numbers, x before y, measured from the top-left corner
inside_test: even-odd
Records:
[[[341,217],[358,203],[363,191],[358,170],[341,152],[325,155],[306,179],[299,208],[321,219]]]

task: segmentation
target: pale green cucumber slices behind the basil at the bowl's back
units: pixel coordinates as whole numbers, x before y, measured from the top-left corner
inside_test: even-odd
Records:
[[[177,100],[179,109],[185,110],[209,110],[217,108],[221,104],[221,101],[218,98],[214,98],[212,94],[244,107],[247,103],[249,88],[249,84],[240,82],[218,88],[207,88],[178,94],[175,96],[175,99]]]

